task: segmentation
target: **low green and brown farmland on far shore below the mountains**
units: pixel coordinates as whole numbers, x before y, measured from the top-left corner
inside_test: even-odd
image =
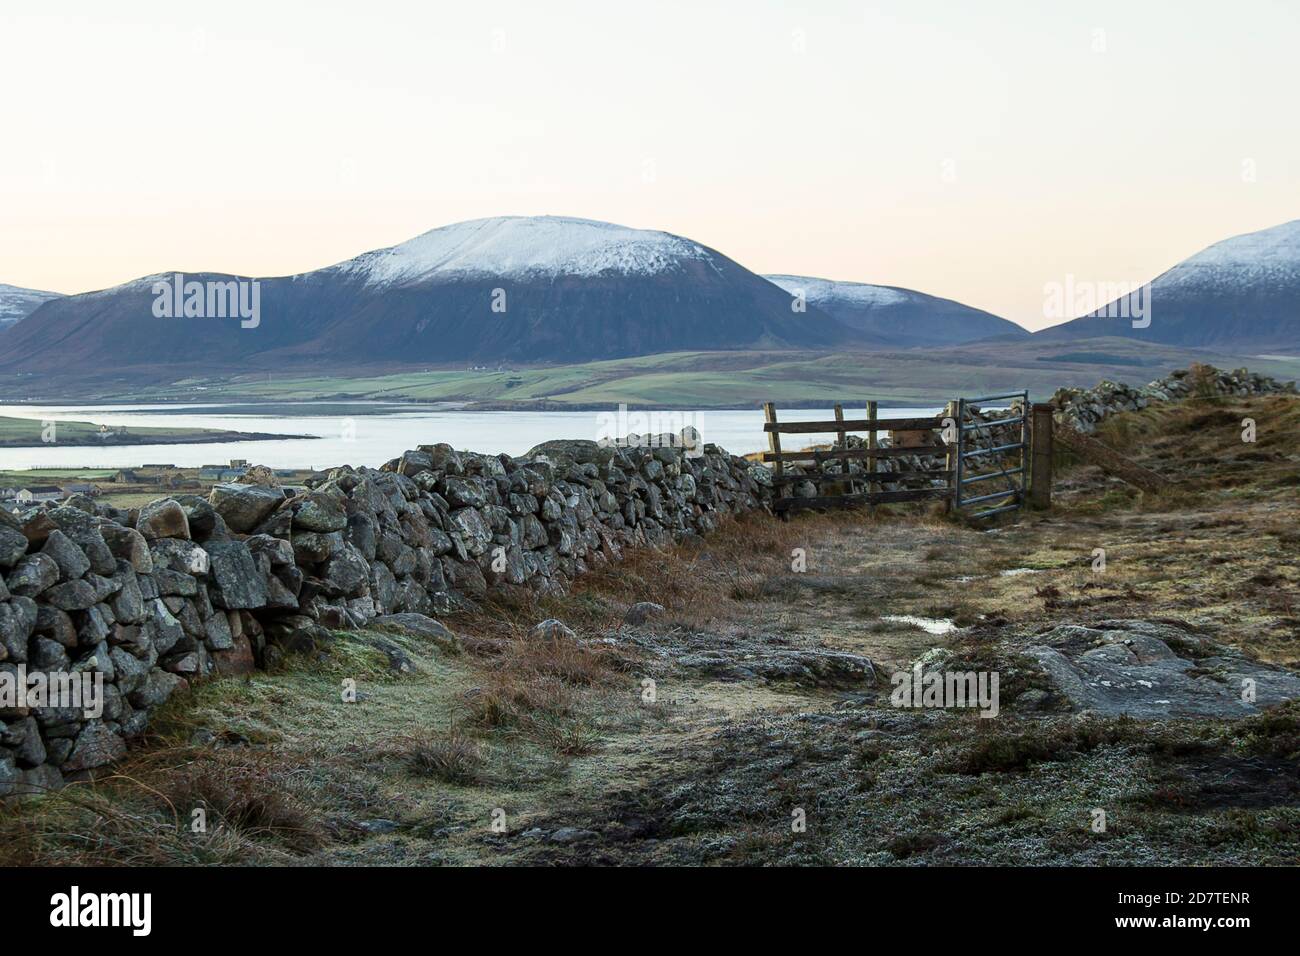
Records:
[[[1028,388],[1048,398],[1061,386],[1101,378],[1147,382],[1192,362],[1249,367],[1292,380],[1300,358],[1243,356],[1153,346],[1127,338],[996,342],[911,351],[667,352],[580,365],[510,369],[321,369],[317,375],[222,375],[165,384],[100,381],[78,401],[458,402],[471,407],[754,407],[827,406],[875,399],[935,405],[958,395]],[[27,386],[25,386],[27,388]],[[0,394],[5,392],[0,381]],[[66,397],[65,397],[66,398]]]

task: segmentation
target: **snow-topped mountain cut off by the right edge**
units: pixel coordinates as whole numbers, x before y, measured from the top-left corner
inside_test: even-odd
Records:
[[[1035,336],[1300,352],[1300,220],[1217,242],[1157,276],[1143,295],[1150,303],[1145,328],[1134,328],[1121,310],[1108,317],[1102,307]]]

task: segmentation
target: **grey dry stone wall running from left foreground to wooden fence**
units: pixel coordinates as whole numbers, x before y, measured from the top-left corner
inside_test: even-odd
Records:
[[[255,476],[131,511],[86,497],[0,511],[0,683],[103,678],[98,717],[0,700],[0,796],[117,760],[190,682],[265,666],[330,628],[430,626],[416,615],[491,589],[559,591],[625,548],[770,501],[763,466],[659,436],[521,458],[421,445],[292,496]]]

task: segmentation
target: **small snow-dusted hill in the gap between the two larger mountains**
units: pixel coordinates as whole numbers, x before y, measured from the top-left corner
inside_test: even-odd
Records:
[[[764,276],[790,295],[802,293],[815,306],[875,341],[898,349],[945,346],[994,336],[1028,333],[1015,323],[952,299],[867,282],[837,282],[811,276]]]

